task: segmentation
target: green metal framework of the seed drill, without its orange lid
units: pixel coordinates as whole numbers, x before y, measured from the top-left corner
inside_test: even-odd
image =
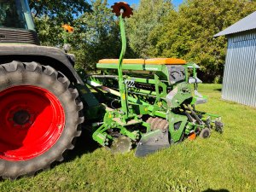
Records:
[[[199,99],[202,101],[207,99],[206,96],[193,95],[189,85],[189,68],[193,69],[192,77],[197,79],[197,66],[194,63],[179,65],[184,67],[185,77],[180,82],[171,83],[168,70],[170,68],[167,65],[140,63],[123,65],[126,37],[125,20],[122,13],[119,16],[119,26],[122,49],[118,65],[116,63],[97,63],[96,67],[103,74],[91,75],[86,82],[93,89],[101,92],[102,96],[113,96],[113,99],[116,98],[120,102],[120,108],[105,107],[101,126],[97,127],[96,125],[93,139],[102,146],[109,145],[113,137],[108,134],[108,131],[114,129],[131,138],[132,141],[137,141],[139,137],[143,136],[143,132],[141,129],[131,129],[131,126],[145,127],[146,133],[151,131],[151,125],[143,121],[143,115],[166,119],[169,122],[170,139],[173,143],[181,141],[183,136],[189,136],[191,133],[198,134],[205,128],[212,128],[216,119],[219,119],[218,115],[200,113],[189,108],[192,106],[195,109],[195,104]],[[118,82],[118,88],[113,85],[113,82]],[[129,86],[127,82],[143,84],[149,88]],[[196,80],[194,88],[197,91]],[[87,97],[88,102],[93,100],[90,94],[89,98],[86,94],[88,94],[87,90],[84,90],[84,97]]]

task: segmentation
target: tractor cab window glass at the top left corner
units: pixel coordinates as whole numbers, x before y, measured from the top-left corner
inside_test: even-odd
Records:
[[[33,29],[26,0],[0,0],[0,27]]]

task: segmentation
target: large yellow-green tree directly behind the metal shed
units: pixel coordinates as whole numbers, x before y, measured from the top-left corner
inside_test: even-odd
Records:
[[[256,10],[249,0],[188,0],[154,28],[150,38],[157,55],[179,57],[201,66],[204,81],[221,79],[226,40],[213,35]]]

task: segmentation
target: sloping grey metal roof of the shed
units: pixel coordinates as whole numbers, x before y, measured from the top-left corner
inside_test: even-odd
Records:
[[[256,11],[253,12],[253,14],[237,21],[234,25],[224,29],[224,31],[218,32],[213,37],[216,38],[218,36],[229,35],[237,32],[245,32],[252,29],[256,29]]]

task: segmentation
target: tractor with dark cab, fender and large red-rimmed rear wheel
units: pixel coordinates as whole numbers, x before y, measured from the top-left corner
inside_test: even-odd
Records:
[[[84,121],[73,57],[40,46],[27,0],[0,1],[0,175],[63,160]]]

